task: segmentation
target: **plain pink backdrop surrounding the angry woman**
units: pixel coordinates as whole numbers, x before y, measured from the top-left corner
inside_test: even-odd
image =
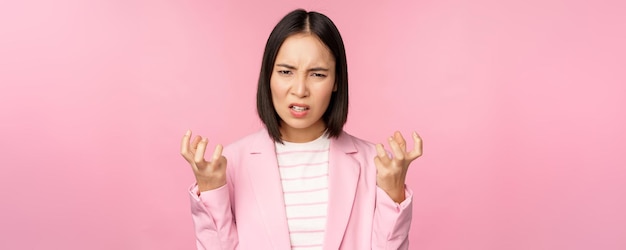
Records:
[[[342,32],[347,130],[424,138],[412,249],[626,249],[623,1],[225,2],[0,4],[0,249],[193,249],[180,138],[260,127],[296,7]]]

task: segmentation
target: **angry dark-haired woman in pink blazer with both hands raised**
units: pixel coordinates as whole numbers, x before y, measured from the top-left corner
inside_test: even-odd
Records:
[[[408,249],[409,164],[396,132],[391,154],[343,131],[348,74],[343,41],[323,14],[295,10],[270,34],[257,111],[265,128],[205,160],[187,131],[181,154],[198,249]],[[228,159],[228,161],[227,161]]]

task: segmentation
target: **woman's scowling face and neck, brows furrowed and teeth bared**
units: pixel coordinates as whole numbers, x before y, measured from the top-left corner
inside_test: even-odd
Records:
[[[283,139],[315,139],[326,129],[322,115],[336,90],[335,59],[317,36],[291,35],[278,50],[270,88]]]

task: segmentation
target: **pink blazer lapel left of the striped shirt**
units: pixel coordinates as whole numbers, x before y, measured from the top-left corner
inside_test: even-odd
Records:
[[[274,249],[291,249],[283,188],[278,172],[274,142],[266,130],[257,133],[247,152],[253,165],[246,166],[257,199],[266,235]]]

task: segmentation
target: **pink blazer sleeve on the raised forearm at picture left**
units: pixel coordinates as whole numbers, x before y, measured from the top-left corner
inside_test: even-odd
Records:
[[[233,216],[229,185],[201,192],[198,187],[189,189],[191,215],[196,233],[196,246],[200,249],[237,249],[237,225]]]

